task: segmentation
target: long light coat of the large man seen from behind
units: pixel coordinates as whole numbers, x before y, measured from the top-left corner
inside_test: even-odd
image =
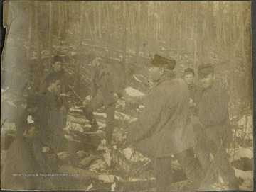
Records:
[[[151,157],[169,157],[193,147],[196,137],[188,111],[185,81],[163,77],[146,96],[144,111],[128,129],[127,142]]]

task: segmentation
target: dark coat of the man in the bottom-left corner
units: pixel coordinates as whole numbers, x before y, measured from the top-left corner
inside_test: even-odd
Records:
[[[4,167],[1,167],[2,189],[31,190],[38,187],[37,176],[24,175],[40,173],[31,141],[18,135],[11,143],[4,162]]]

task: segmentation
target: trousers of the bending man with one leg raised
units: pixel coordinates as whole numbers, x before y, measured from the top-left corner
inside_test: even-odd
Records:
[[[106,102],[105,98],[101,91],[97,91],[97,94],[92,101],[89,102],[85,112],[85,116],[90,123],[96,123],[95,117],[93,115],[93,111],[96,111],[98,108],[105,106],[107,118],[106,118],[106,127],[105,127],[105,134],[106,134],[106,141],[111,142],[112,134],[114,130],[114,112],[116,107],[116,102]]]

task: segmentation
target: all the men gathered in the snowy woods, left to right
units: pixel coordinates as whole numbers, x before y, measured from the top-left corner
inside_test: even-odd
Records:
[[[75,146],[65,139],[63,132],[69,89],[62,64],[61,57],[53,57],[53,70],[41,79],[40,97],[28,98],[26,110],[19,116],[16,129],[21,131],[16,142],[9,147],[2,175],[6,189],[14,189],[8,184],[14,180],[18,182],[17,189],[36,189],[33,179],[23,177],[22,181],[18,181],[12,174],[35,174],[38,167],[41,171],[53,170],[57,163],[53,161],[49,164],[46,154],[50,151],[54,154],[68,151],[70,162],[79,164]],[[114,84],[109,64],[104,64],[97,57],[90,64],[92,92],[89,101],[82,107],[91,125],[87,131],[98,129],[92,112],[104,106],[107,113],[105,137],[111,147],[114,112],[120,90]],[[230,142],[230,135],[232,137],[228,122],[228,96],[214,84],[213,65],[202,64],[198,67],[198,88],[193,83],[193,69],[185,70],[185,81],[176,77],[175,60],[154,55],[149,65],[149,76],[156,86],[144,100],[144,111],[126,131],[127,145],[133,145],[139,152],[151,157],[157,190],[171,190],[173,158],[178,160],[188,179],[193,181],[193,190],[208,189],[218,179],[218,174],[230,189],[239,189],[225,152],[225,143]],[[20,153],[16,153],[17,150]],[[28,163],[19,164],[22,158]]]

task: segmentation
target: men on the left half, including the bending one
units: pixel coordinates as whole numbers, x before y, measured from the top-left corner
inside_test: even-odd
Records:
[[[91,127],[85,128],[85,131],[97,131],[99,126],[92,112],[105,106],[107,113],[105,135],[107,145],[110,146],[119,91],[112,82],[108,65],[100,63],[97,57],[93,57],[90,64],[92,92],[89,101],[85,100],[82,111]],[[17,115],[17,137],[6,154],[6,164],[1,172],[2,188],[31,190],[52,186],[52,182],[49,181],[45,185],[46,188],[43,188],[36,179],[38,177],[23,176],[23,174],[46,174],[49,171],[58,171],[61,159],[58,159],[57,154],[60,152],[65,152],[63,155],[68,159],[66,161],[68,164],[81,166],[74,142],[65,138],[69,91],[68,77],[63,70],[63,59],[55,55],[52,58],[52,69],[41,78],[38,94],[29,95],[26,108]],[[21,164],[21,161],[26,163]]]

